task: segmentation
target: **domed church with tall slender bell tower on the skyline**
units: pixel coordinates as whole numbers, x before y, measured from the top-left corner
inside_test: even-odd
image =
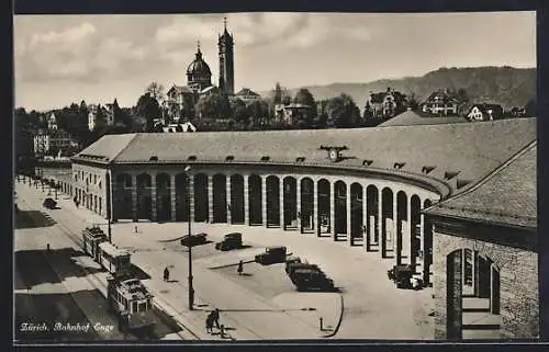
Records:
[[[187,86],[173,84],[167,92],[168,118],[171,121],[190,121],[195,116],[194,104],[200,96],[213,92],[224,92],[234,98],[234,39],[228,33],[226,19],[224,31],[219,35],[220,80],[212,84],[212,71],[204,60],[198,43],[194,60],[187,68]]]

